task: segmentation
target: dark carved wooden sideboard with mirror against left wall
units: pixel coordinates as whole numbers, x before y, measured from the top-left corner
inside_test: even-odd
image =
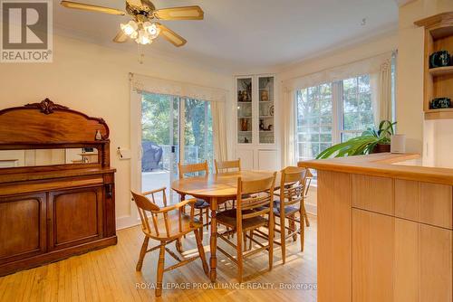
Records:
[[[0,276],[117,242],[103,119],[49,99],[0,111],[0,150],[83,147],[98,150],[97,163],[0,168]]]

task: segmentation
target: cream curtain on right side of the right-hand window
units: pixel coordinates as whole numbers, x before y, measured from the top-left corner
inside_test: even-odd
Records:
[[[374,123],[392,119],[391,57],[381,63],[379,71],[371,74]]]

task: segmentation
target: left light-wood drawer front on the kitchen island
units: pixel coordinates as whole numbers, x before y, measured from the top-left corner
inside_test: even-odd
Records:
[[[352,175],[352,206],[393,215],[393,180],[386,177]]]

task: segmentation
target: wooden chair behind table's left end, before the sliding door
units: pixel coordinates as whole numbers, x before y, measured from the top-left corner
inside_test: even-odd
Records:
[[[190,176],[197,176],[199,174],[208,175],[209,174],[209,166],[207,165],[207,161],[198,164],[188,164],[182,165],[178,163],[178,176],[179,179],[190,177]],[[180,194],[180,200],[183,201],[186,198],[186,195]],[[199,217],[199,221],[203,223],[203,226],[208,228],[209,226],[209,203],[207,203],[204,199],[196,198],[195,209],[198,210],[196,213]],[[183,209],[185,212],[185,208]],[[203,222],[203,214],[206,215],[206,222]],[[203,240],[203,228],[200,229],[200,236],[201,240]]]

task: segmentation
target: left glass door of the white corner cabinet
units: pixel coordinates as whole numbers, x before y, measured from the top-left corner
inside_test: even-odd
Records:
[[[253,144],[253,78],[237,79],[237,143]]]

